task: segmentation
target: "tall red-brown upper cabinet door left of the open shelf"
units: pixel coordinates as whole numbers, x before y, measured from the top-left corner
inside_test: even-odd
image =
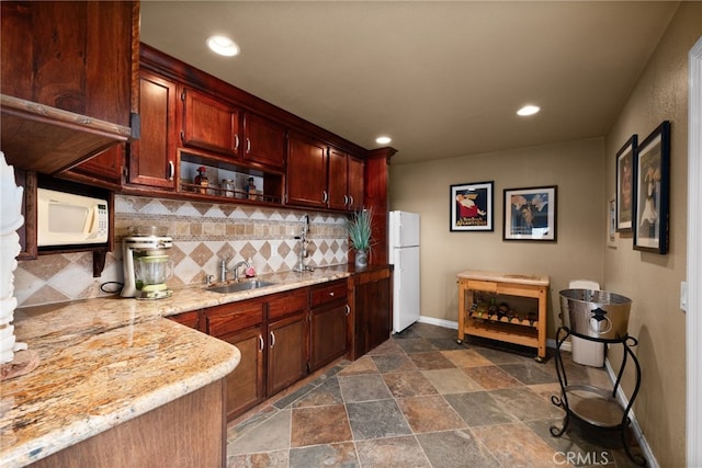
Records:
[[[176,83],[147,71],[139,75],[140,139],[129,146],[131,184],[176,187]]]

